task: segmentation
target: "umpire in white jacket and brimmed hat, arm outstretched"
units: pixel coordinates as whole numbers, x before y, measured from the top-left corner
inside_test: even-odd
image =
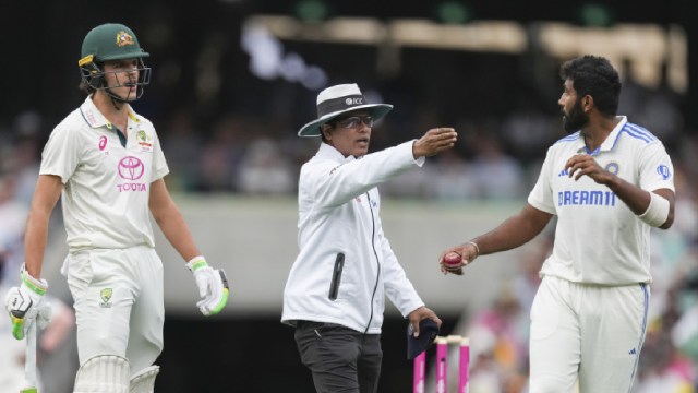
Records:
[[[296,326],[301,360],[321,393],[377,391],[385,297],[418,332],[426,318],[441,325],[385,237],[377,186],[453,147],[457,135],[450,128],[432,129],[368,154],[374,121],[392,108],[366,103],[357,84],[339,84],[317,95],[317,119],[299,131],[322,142],[301,168],[300,252],[286,283],[281,321]]]

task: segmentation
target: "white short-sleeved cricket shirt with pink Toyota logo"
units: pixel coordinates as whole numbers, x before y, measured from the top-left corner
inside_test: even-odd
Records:
[[[154,247],[151,183],[169,169],[153,124],[129,107],[128,140],[87,97],[51,132],[41,153],[40,175],[64,184],[63,221],[71,252]]]

